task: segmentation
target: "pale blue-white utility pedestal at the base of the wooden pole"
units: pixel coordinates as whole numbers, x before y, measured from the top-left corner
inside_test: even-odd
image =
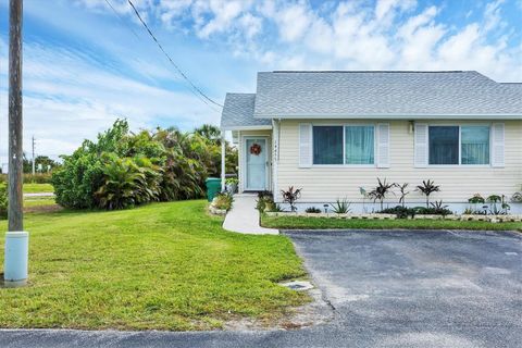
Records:
[[[5,287],[27,284],[29,234],[24,231],[5,233],[3,282]]]

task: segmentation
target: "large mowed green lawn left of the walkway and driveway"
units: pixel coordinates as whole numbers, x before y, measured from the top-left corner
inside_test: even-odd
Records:
[[[209,330],[308,300],[276,284],[304,275],[289,239],[221,224],[204,201],[26,214],[29,285],[0,288],[0,327]]]

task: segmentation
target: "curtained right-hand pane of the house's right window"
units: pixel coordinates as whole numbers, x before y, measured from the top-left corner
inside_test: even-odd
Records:
[[[489,164],[489,127],[462,126],[462,164]]]

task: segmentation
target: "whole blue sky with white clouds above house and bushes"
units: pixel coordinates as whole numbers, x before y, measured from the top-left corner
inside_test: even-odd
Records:
[[[134,129],[219,123],[126,0],[24,1],[24,147],[57,157],[117,116]],[[271,70],[477,70],[522,80],[522,0],[134,0],[206,94],[251,92]],[[8,119],[8,0],[0,0],[0,160]]]

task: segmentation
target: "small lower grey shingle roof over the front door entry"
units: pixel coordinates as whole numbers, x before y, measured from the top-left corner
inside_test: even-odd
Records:
[[[252,126],[270,126],[272,121],[253,117],[253,94],[226,94],[225,104],[221,114],[221,128],[240,128]]]

